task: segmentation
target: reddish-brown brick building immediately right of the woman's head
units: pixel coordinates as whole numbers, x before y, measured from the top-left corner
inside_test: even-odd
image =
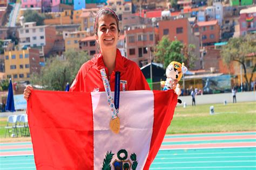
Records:
[[[148,27],[125,31],[126,56],[133,60],[139,67],[150,63],[153,59],[150,49],[156,46],[158,41],[158,29]]]

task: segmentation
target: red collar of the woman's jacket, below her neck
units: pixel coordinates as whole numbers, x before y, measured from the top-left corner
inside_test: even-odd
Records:
[[[96,66],[100,70],[102,68],[105,68],[104,62],[103,62],[103,55],[102,52],[100,52],[97,55],[96,59]],[[119,49],[117,49],[116,54],[116,66],[114,67],[114,72],[120,72],[125,73],[125,67],[124,67],[124,57],[121,55]]]

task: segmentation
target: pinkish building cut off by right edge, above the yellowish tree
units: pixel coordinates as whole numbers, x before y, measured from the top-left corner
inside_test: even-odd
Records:
[[[240,11],[240,36],[256,31],[256,6]]]

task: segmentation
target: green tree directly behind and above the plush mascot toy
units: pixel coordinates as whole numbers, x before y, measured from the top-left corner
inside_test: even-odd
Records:
[[[193,68],[196,55],[194,54],[194,45],[184,45],[178,40],[170,41],[168,37],[164,36],[156,46],[155,61],[163,63],[166,68],[170,62],[178,61],[184,62],[185,66]]]

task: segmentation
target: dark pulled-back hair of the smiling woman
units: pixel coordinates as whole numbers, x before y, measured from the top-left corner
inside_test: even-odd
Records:
[[[95,20],[94,20],[94,29],[95,29],[95,34],[97,35],[97,31],[98,31],[98,20],[100,17],[102,16],[111,16],[112,18],[116,19],[117,22],[117,30],[118,32],[120,32],[119,30],[119,19],[118,16],[116,15],[116,13],[111,10],[110,8],[103,8],[100,9],[99,12],[97,13]]]

